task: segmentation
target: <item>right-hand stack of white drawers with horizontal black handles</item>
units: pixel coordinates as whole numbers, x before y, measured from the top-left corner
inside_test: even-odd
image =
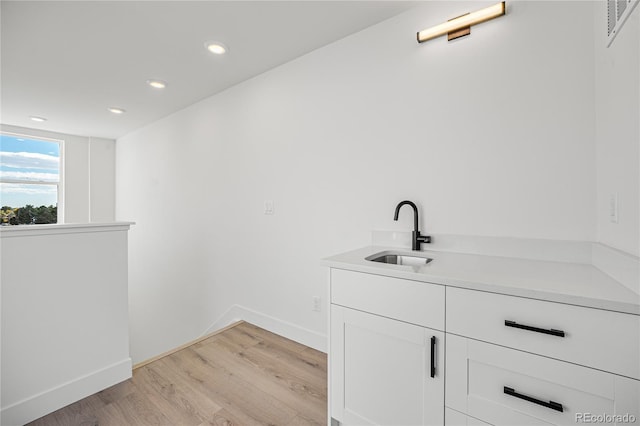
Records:
[[[447,407],[496,426],[640,418],[639,316],[452,287],[446,296]]]

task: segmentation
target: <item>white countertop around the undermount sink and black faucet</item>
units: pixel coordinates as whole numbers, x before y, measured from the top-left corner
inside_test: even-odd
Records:
[[[367,256],[387,250],[412,253],[404,249],[369,246],[331,256],[324,259],[323,264],[337,269],[640,315],[640,295],[592,265],[428,250],[420,253],[433,261],[419,267],[365,260]]]

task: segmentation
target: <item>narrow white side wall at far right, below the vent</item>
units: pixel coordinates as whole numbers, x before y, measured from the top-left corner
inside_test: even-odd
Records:
[[[640,7],[606,48],[606,3],[595,13],[598,241],[640,255]],[[618,223],[609,220],[618,194]]]

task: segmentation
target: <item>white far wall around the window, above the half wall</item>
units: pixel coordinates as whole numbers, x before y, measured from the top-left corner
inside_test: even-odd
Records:
[[[63,141],[65,223],[113,222],[115,141],[0,125],[0,130]]]

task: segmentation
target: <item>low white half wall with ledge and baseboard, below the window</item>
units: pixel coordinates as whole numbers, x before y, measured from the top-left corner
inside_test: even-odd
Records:
[[[23,425],[131,377],[128,228],[0,229],[1,424]]]

